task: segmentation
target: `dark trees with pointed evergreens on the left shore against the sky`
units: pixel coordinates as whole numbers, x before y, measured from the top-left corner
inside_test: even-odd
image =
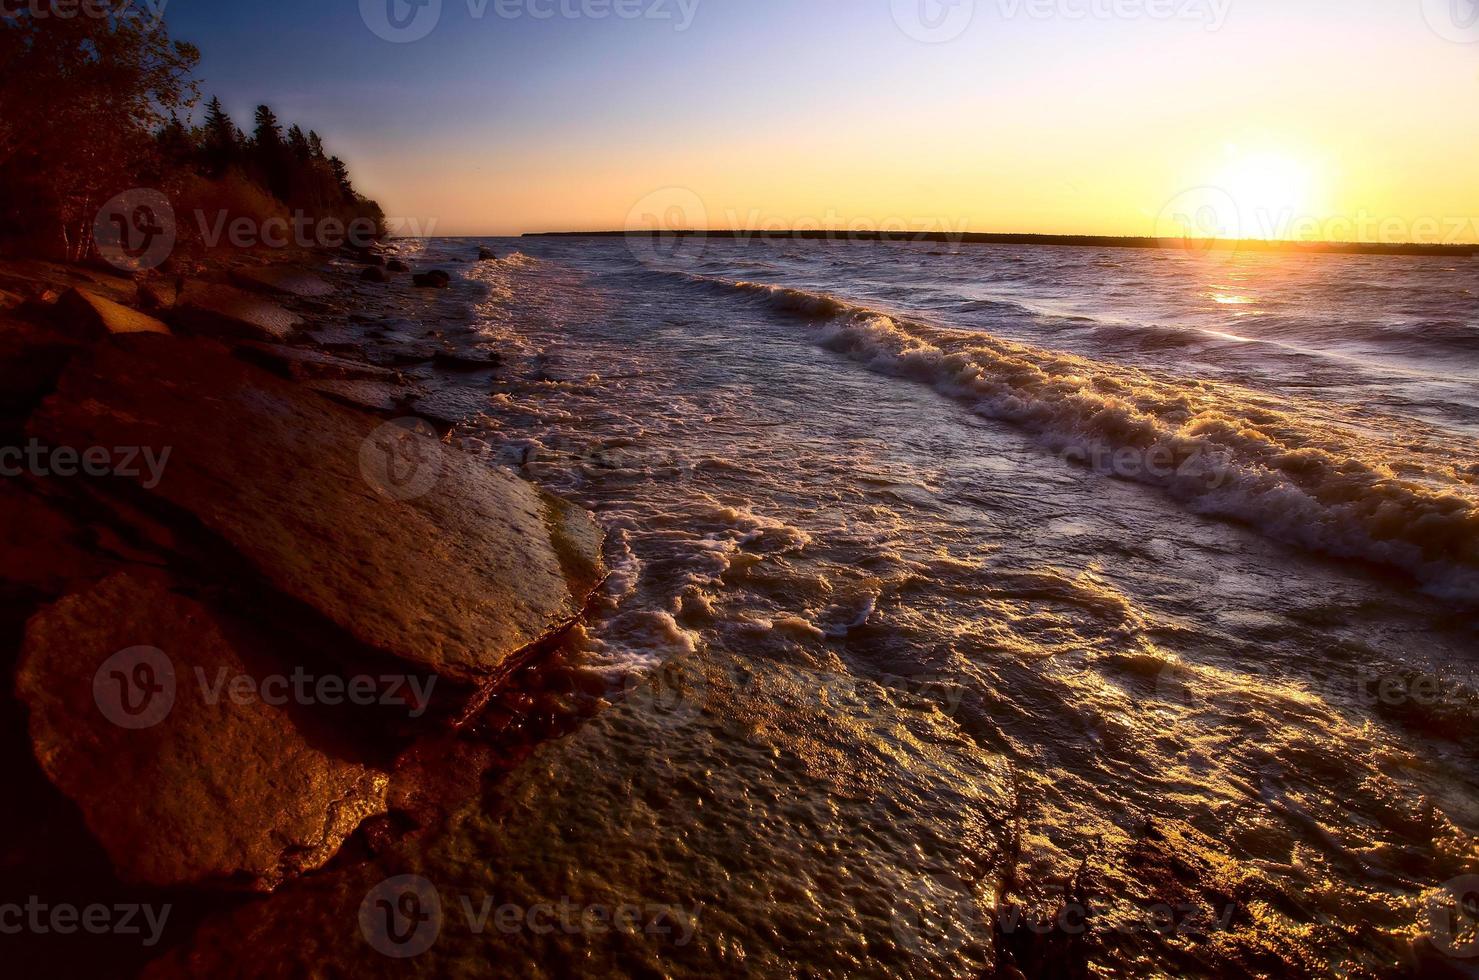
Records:
[[[0,16],[0,241],[10,251],[90,257],[98,210],[133,188],[163,191],[186,247],[203,247],[192,213],[226,219],[306,216],[351,223],[374,201],[355,192],[318,133],[285,132],[259,106],[247,135],[219,99],[200,124],[194,44],[172,41],[142,0],[106,18]]]

